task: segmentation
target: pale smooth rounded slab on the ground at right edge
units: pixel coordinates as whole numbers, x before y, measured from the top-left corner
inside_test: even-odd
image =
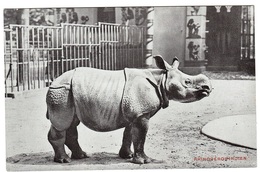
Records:
[[[215,119],[201,130],[206,136],[237,146],[256,149],[256,115],[234,115]]]

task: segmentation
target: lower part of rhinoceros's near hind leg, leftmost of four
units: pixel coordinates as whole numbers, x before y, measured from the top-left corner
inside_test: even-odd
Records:
[[[66,131],[58,131],[51,126],[48,133],[48,140],[54,149],[54,162],[69,163],[71,162],[70,157],[66,154],[64,143],[65,143]]]

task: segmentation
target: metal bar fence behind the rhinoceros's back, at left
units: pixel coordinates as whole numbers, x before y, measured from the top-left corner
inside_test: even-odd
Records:
[[[143,67],[145,27],[111,23],[4,29],[5,93],[42,88],[76,67]]]

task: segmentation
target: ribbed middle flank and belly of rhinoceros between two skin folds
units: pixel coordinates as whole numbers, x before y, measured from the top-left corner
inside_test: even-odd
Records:
[[[121,113],[124,84],[123,71],[77,68],[72,92],[80,121],[96,131],[123,127],[126,123]]]

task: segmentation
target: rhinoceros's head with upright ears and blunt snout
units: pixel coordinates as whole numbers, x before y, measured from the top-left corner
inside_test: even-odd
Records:
[[[169,65],[161,56],[155,56],[156,65],[167,71],[165,92],[170,100],[188,103],[207,97],[212,91],[208,77],[203,74],[191,76],[181,72],[178,58]]]

